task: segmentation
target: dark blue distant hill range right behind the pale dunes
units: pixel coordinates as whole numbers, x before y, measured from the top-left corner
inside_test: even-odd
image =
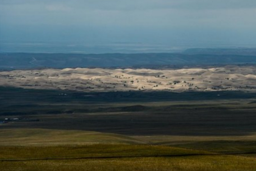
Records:
[[[233,54],[232,54],[233,53]],[[183,53],[0,53],[0,68],[195,66],[256,63],[256,49],[188,49]]]

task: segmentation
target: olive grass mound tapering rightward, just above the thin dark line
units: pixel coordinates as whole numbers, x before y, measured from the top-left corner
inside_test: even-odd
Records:
[[[36,153],[35,153],[36,151]],[[199,150],[155,145],[0,146],[0,160],[40,160],[108,157],[150,157],[209,154]]]

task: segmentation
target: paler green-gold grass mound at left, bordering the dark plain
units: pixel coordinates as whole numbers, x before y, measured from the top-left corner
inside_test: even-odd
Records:
[[[0,145],[141,144],[129,136],[80,130],[1,129]]]

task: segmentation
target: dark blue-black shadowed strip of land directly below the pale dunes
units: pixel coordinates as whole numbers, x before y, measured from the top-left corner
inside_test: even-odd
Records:
[[[59,94],[67,94],[60,96]],[[157,102],[157,101],[196,101],[196,100],[223,100],[256,98],[256,92],[217,91],[217,92],[182,92],[168,91],[128,91],[128,92],[76,92],[69,90],[36,90],[0,87],[0,106],[34,105],[42,102],[65,103],[111,103],[111,102]],[[22,101],[22,104],[20,104]],[[11,102],[11,103],[7,103]],[[16,103],[18,102],[18,103]],[[29,103],[26,103],[29,102]],[[27,106],[28,107],[28,106]]]

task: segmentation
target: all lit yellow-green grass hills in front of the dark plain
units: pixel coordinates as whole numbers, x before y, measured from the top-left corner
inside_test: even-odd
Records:
[[[214,141],[183,136],[172,145],[143,137],[90,131],[0,131],[1,171],[254,171],[256,141]],[[171,139],[168,137],[167,139]],[[163,142],[164,143],[164,142]],[[158,142],[159,144],[159,142]],[[251,155],[249,155],[251,154]]]

